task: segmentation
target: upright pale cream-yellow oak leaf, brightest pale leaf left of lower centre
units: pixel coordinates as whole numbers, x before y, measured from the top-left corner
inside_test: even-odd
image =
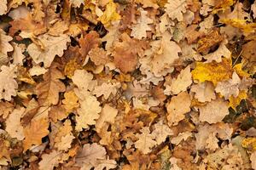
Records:
[[[96,97],[88,94],[85,99],[80,103],[78,109],[78,116],[76,116],[76,130],[82,131],[82,128],[88,128],[89,125],[95,125],[96,119],[99,118],[99,113],[102,111],[100,102]]]

